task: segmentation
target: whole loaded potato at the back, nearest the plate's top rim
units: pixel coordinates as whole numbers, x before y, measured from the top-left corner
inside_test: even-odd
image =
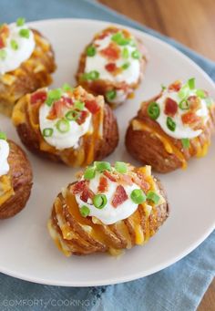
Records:
[[[132,97],[143,78],[147,51],[128,30],[110,26],[98,33],[80,57],[77,83],[104,95],[116,108]]]

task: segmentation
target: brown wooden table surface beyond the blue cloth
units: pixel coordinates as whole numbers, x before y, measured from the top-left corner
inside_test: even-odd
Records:
[[[215,60],[215,0],[98,0],[98,2]],[[215,280],[198,308],[198,311],[214,310]]]

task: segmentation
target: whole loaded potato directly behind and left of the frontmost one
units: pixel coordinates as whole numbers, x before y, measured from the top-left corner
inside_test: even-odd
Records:
[[[118,145],[112,110],[81,87],[38,89],[18,101],[12,119],[29,150],[69,166],[101,160]]]

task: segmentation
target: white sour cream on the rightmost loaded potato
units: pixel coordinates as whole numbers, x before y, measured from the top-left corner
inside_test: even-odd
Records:
[[[196,95],[195,90],[189,92],[189,96]],[[172,118],[176,123],[176,130],[172,131],[169,130],[167,127],[167,118],[168,116],[164,113],[165,109],[165,101],[167,98],[171,98],[175,100],[178,104],[181,101],[179,98],[179,92],[169,91],[168,89],[165,90],[161,96],[161,98],[157,99],[156,102],[159,104],[160,114],[157,122],[159,123],[162,130],[164,130],[169,136],[173,137],[174,139],[193,139],[198,137],[202,130],[192,130],[189,125],[185,125],[182,120],[181,116],[186,113],[186,110],[178,109],[176,115]],[[209,119],[209,110],[207,108],[207,103],[205,99],[200,99],[201,108],[196,112],[199,117],[204,118],[204,122],[206,123]]]

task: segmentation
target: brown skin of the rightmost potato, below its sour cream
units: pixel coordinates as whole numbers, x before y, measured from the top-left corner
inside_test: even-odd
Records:
[[[205,128],[202,130],[198,139],[189,140],[189,149],[183,149],[181,140],[176,140],[169,137],[159,126],[155,120],[148,117],[148,105],[156,101],[157,98],[152,98],[147,102],[142,103],[141,109],[138,110],[138,115],[129,123],[126,134],[126,147],[128,152],[138,161],[143,164],[149,164],[155,171],[167,173],[174,171],[183,166],[181,156],[184,162],[189,161],[190,158],[200,156],[199,150],[203,150],[210,144],[211,134],[214,131],[215,125],[215,107],[210,109],[210,119]],[[149,129],[158,132],[162,137],[169,140],[169,143],[176,152],[169,153],[158,136],[154,135],[148,130],[134,130],[132,122],[138,120],[140,123],[146,124]],[[180,157],[179,157],[179,153]],[[203,155],[203,153],[202,153]]]

